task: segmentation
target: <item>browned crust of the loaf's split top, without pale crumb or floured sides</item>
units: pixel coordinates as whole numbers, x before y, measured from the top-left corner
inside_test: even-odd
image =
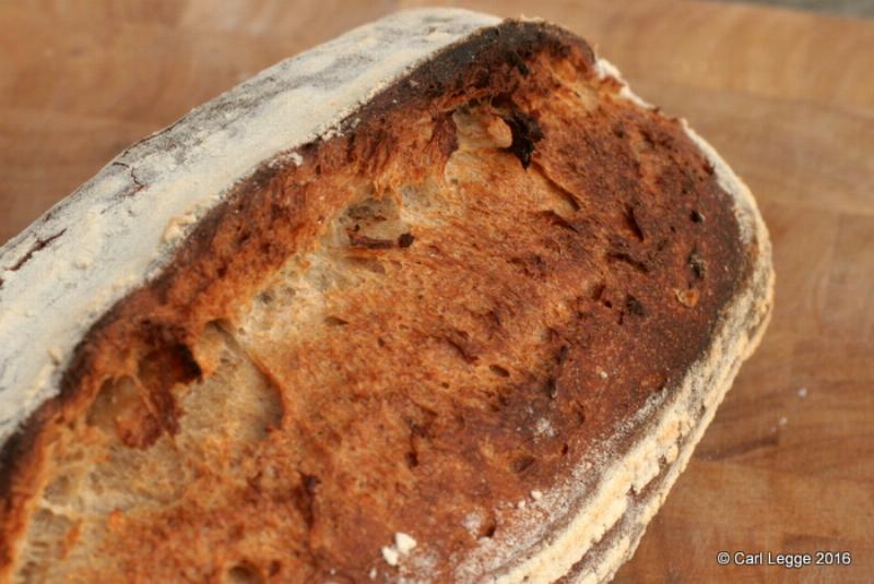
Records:
[[[505,508],[671,391],[745,277],[709,163],[676,121],[615,91],[583,41],[508,22],[306,146],[303,166],[265,165],[92,329],[61,395],[4,449],[3,565],[51,474],[48,444],[86,431],[102,388],[140,380],[142,416],[114,426],[128,448],[174,437],[180,388],[210,373],[209,323],[233,327],[356,189],[380,200],[436,184],[456,221],[390,238],[351,227],[344,253],[378,265],[379,285],[346,290],[318,334],[244,347],[283,415],[238,476],[213,477],[218,506],[187,494],[115,516],[103,552],[134,580],[217,580],[244,562],[265,580],[353,581],[406,531],[427,541],[430,576],[451,581],[452,562],[511,521]]]

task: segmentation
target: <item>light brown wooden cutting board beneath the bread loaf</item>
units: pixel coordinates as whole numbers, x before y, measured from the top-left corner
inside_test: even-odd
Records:
[[[0,3],[0,241],[189,108],[410,4]],[[874,22],[659,0],[463,5],[590,39],[724,154],[773,239],[767,336],[616,581],[872,582]],[[721,568],[723,550],[852,564]]]

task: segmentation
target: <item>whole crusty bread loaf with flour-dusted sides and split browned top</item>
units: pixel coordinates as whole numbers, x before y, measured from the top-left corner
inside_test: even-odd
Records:
[[[404,12],[0,251],[11,582],[597,582],[756,346],[767,231],[572,34]]]

